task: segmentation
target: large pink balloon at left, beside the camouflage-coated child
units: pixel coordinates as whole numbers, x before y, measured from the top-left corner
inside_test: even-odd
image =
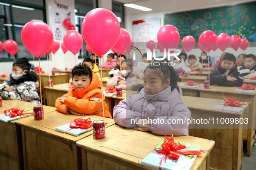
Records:
[[[52,45],[52,30],[42,21],[30,21],[21,30],[21,40],[30,53],[40,58]]]

